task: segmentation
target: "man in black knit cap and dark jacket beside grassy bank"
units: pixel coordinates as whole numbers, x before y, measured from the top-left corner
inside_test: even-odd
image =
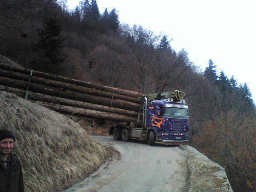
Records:
[[[12,131],[0,130],[0,192],[24,192],[20,160],[11,154],[14,144]]]

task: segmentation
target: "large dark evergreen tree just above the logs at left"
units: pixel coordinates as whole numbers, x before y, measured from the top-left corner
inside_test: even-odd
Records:
[[[57,18],[44,21],[44,29],[38,31],[38,42],[32,44],[38,54],[36,61],[33,62],[35,68],[49,73],[57,72],[66,57],[62,52],[65,43],[64,38],[61,37],[61,30],[61,23]]]

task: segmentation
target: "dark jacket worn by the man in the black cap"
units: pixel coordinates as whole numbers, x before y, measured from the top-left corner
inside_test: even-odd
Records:
[[[5,170],[0,164],[0,192],[24,192],[22,166],[17,155],[9,154],[10,162]]]

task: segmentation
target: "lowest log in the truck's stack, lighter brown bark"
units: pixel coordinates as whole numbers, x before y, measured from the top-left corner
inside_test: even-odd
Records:
[[[58,111],[60,113],[64,114],[70,114],[75,116],[92,116],[97,117],[100,119],[108,119],[108,120],[114,120],[119,122],[134,122],[136,121],[136,117],[131,116],[125,116],[125,115],[119,115],[119,114],[111,114],[107,112],[102,111],[94,111],[90,109],[81,109],[81,108],[74,108],[70,106],[64,106],[64,105],[58,105],[58,104],[52,104],[52,103],[46,103],[46,102],[38,102],[38,101],[32,101],[38,105],[44,106],[46,108],[49,108],[53,111]]]

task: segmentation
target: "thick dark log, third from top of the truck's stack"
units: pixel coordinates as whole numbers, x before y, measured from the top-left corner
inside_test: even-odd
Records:
[[[0,76],[0,84],[26,90],[28,82]],[[78,93],[72,90],[63,90],[61,88],[51,87],[48,85],[42,85],[37,83],[30,83],[29,90],[36,93],[42,93],[45,95],[59,96],[61,98],[105,105],[108,107],[112,106],[113,108],[127,109],[136,112],[140,109],[140,104],[138,103],[124,101],[120,99],[111,99],[102,96],[93,96],[87,93]]]

